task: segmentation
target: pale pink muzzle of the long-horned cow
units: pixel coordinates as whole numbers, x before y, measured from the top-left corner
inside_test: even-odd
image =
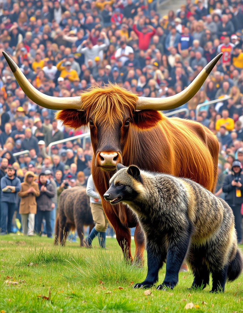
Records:
[[[105,171],[114,171],[118,163],[122,163],[122,157],[119,152],[101,151],[97,153],[96,163]]]

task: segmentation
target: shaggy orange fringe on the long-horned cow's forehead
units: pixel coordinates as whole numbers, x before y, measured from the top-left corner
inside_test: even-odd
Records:
[[[88,89],[81,94],[81,100],[87,119],[92,112],[94,123],[116,125],[123,121],[125,112],[132,116],[138,97],[118,85],[108,84]]]

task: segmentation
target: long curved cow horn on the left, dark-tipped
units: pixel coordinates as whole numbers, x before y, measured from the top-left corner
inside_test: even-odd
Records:
[[[52,110],[65,110],[65,109],[82,110],[81,97],[58,98],[58,97],[51,97],[51,96],[42,94],[39,90],[35,89],[31,85],[31,83],[27,80],[27,78],[21,72],[17,64],[7,55],[7,53],[2,51],[2,54],[4,55],[4,58],[7,60],[7,64],[12,70],[23,92],[33,102],[35,102],[38,105],[43,106],[44,108],[52,109]]]

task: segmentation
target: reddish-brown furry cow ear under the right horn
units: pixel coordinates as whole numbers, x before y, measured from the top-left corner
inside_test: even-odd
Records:
[[[155,110],[135,111],[133,114],[135,125],[141,129],[154,127],[162,119],[163,115]]]

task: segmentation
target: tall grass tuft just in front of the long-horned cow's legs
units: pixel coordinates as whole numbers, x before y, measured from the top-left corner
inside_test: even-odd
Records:
[[[129,285],[132,281],[142,281],[146,276],[146,268],[138,268],[126,262],[122,255],[115,251],[97,249],[95,256],[91,251],[87,251],[84,261],[85,264],[80,264],[77,257],[67,260],[68,269],[73,271],[72,278],[69,279],[79,280],[91,286],[97,285],[98,282]]]

